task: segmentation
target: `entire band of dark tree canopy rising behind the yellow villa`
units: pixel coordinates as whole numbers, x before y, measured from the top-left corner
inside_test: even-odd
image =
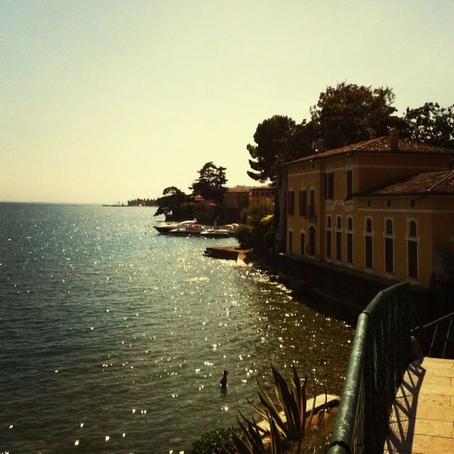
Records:
[[[417,109],[407,108],[405,116],[399,117],[392,105],[394,98],[389,87],[342,82],[321,92],[310,109],[309,121],[297,123],[283,115],[267,118],[255,130],[255,144],[246,147],[251,157],[249,177],[277,184],[279,166],[314,153],[318,138],[330,150],[386,135],[393,127],[399,128],[402,138],[454,148],[454,105],[443,109],[426,103]]]

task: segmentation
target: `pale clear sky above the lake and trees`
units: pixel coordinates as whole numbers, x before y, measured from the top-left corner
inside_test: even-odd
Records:
[[[454,103],[454,1],[0,0],[0,200],[187,191],[338,82]]]

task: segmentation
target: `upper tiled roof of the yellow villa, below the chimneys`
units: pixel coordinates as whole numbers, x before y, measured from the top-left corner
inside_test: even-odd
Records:
[[[428,143],[412,142],[411,140],[399,139],[398,150],[393,151],[389,145],[387,136],[365,140],[364,142],[353,143],[345,147],[326,150],[322,153],[314,153],[312,155],[300,157],[297,160],[286,162],[284,165],[297,164],[298,162],[306,162],[309,160],[319,160],[327,157],[346,155],[348,153],[412,153],[412,154],[431,154],[431,155],[452,155],[454,150],[450,148],[438,147],[429,145]]]

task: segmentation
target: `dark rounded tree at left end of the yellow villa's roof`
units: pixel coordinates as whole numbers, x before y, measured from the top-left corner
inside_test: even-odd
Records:
[[[306,121],[297,124],[293,118],[275,115],[257,126],[254,142],[246,147],[253,159],[249,160],[248,175],[257,181],[270,179],[276,184],[279,179],[279,166],[288,160],[297,159],[309,152],[311,138]]]

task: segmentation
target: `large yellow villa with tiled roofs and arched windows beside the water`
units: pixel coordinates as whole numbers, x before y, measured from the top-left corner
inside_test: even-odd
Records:
[[[285,165],[287,253],[421,287],[450,275],[453,150],[399,140],[396,129],[316,148]]]

